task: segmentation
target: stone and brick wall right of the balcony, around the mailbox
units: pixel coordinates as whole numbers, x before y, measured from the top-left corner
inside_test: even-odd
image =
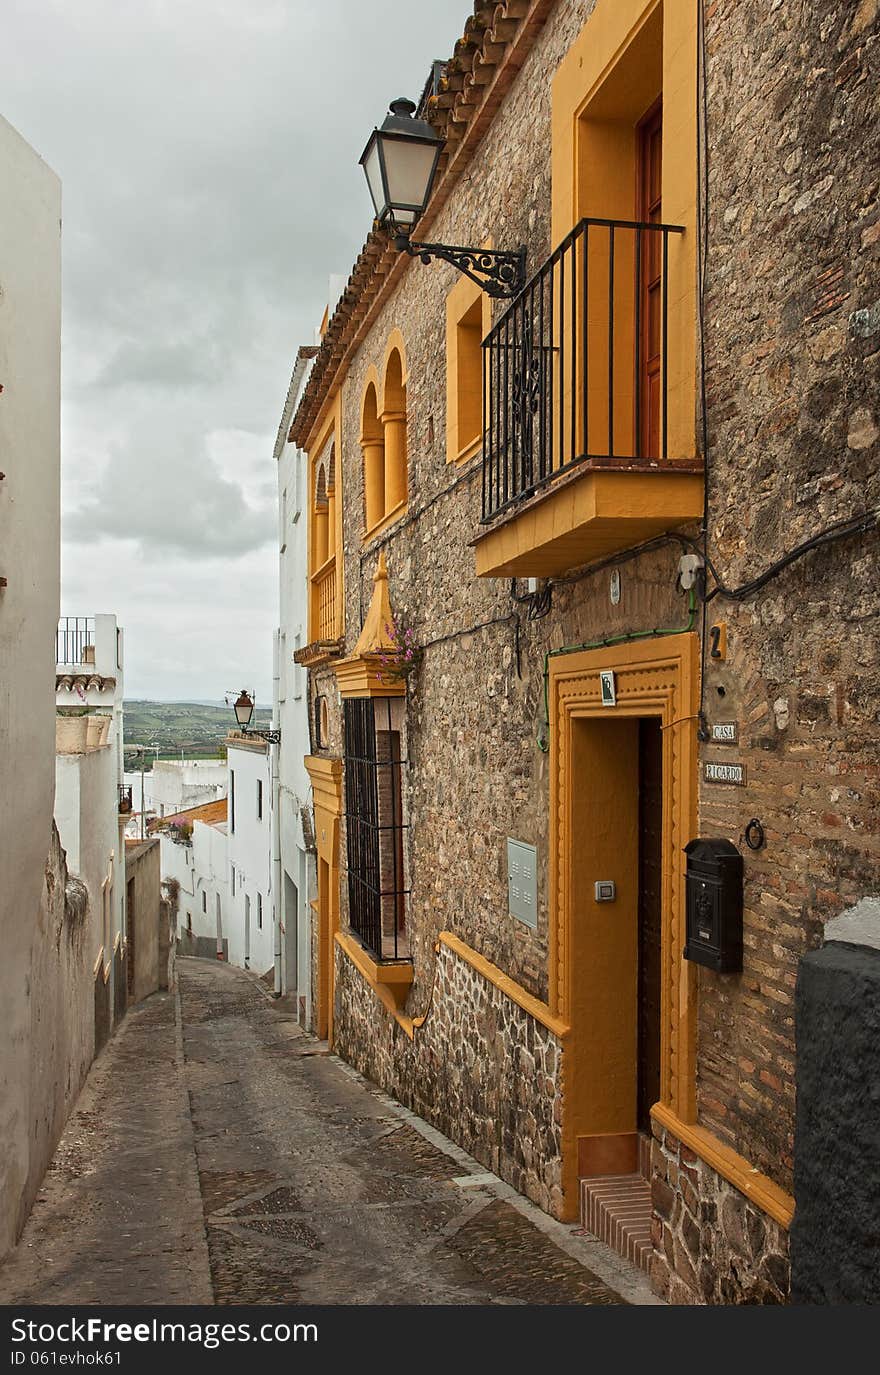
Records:
[[[707,8],[710,531],[733,587],[880,505],[880,44],[873,0]],[[705,710],[741,741],[703,754],[748,785],[704,785],[700,817],[745,855],[745,956],[700,975],[700,1121],[788,1191],[798,961],[880,873],[876,560],[876,535],[847,539],[711,604],[730,653]]]

